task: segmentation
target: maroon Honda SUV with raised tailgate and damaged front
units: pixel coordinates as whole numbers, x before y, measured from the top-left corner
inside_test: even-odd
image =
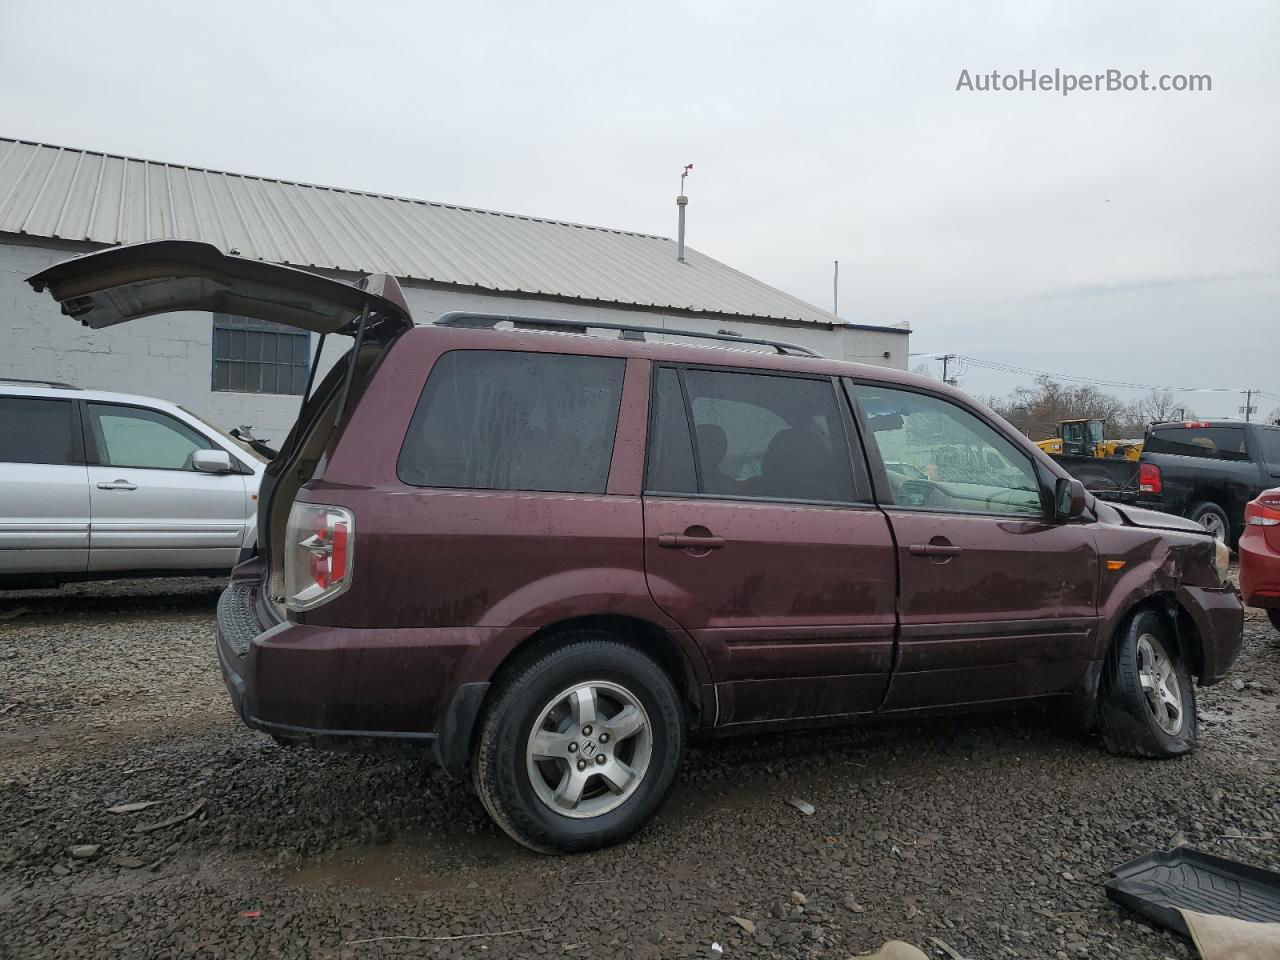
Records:
[[[353,337],[219,602],[227,686],[279,740],[430,745],[536,850],[636,831],[694,731],[1047,701],[1180,754],[1192,678],[1240,645],[1224,545],[1094,500],[934,380],[643,328],[415,326],[390,278],[179,241],[31,283],[91,328],[209,310]]]

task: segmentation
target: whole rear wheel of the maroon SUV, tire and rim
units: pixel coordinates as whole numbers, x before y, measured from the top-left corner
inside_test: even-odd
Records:
[[[618,844],[662,805],[685,717],[666,671],[603,631],[517,660],[481,721],[471,764],[480,800],[539,852]]]

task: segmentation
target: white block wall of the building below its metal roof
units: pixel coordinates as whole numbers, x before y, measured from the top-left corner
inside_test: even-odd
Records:
[[[37,294],[24,282],[46,266],[88,250],[87,244],[0,242],[0,378],[63,380],[88,389],[163,397],[221,429],[248,424],[260,436],[271,440],[283,438],[293,422],[298,397],[215,393],[210,389],[212,323],[209,314],[169,314],[105,330],[88,330],[63,316],[47,292]],[[832,358],[906,369],[909,338],[899,333],[664,316],[425,284],[406,284],[404,296],[419,323],[431,323],[449,310],[475,310],[705,333],[728,329],[746,337],[799,343]],[[319,372],[328,370],[339,352],[338,344],[329,344]]]

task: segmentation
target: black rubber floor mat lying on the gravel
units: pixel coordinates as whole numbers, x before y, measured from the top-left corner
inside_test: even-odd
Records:
[[[1189,847],[1157,850],[1111,870],[1107,896],[1187,936],[1178,908],[1242,920],[1280,922],[1280,873]]]

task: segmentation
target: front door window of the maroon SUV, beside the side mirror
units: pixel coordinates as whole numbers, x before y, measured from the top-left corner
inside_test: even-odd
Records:
[[[855,385],[892,503],[956,513],[1043,515],[1030,458],[950,401]]]

